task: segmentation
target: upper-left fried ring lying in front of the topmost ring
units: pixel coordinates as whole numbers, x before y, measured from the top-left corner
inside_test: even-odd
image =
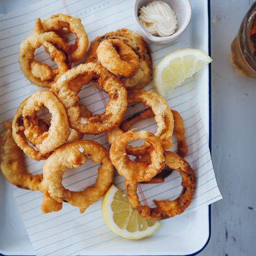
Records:
[[[34,51],[40,46],[45,47],[58,69],[52,70],[45,63],[34,60]],[[51,87],[52,83],[70,69],[71,61],[65,41],[54,32],[47,32],[31,34],[20,44],[19,65],[32,83],[40,87]]]

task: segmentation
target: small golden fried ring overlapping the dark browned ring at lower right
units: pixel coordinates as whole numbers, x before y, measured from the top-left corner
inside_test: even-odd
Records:
[[[126,144],[137,139],[145,140],[150,144],[151,163],[131,161],[127,155]],[[165,154],[161,140],[154,134],[147,131],[129,131],[115,138],[110,148],[110,159],[125,180],[140,182],[150,181],[161,172],[165,163]]]

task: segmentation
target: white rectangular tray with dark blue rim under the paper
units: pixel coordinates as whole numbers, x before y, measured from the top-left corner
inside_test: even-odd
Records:
[[[26,4],[29,3],[26,1]],[[17,5],[20,5],[20,1],[9,2],[8,5],[8,10],[11,9],[11,5],[15,5],[13,9],[16,9]],[[204,0],[191,0],[191,5],[193,15],[187,30],[179,38],[181,48],[196,48],[209,52],[209,1],[207,3]],[[209,76],[209,70],[205,69],[195,75],[194,78],[197,83],[202,119],[210,141]],[[0,174],[0,204],[0,252],[5,255],[35,255],[14,201],[11,186],[2,174]],[[202,250],[209,237],[210,207],[202,206],[197,211],[176,216],[172,218],[172,221],[168,221],[161,229],[159,236],[154,239],[152,248],[147,247],[145,251],[142,240],[140,241],[141,250],[136,251],[136,253],[123,250],[123,244],[120,246],[118,243],[115,244],[115,250],[116,255],[120,255],[121,252],[123,255],[187,255]],[[129,248],[129,240],[125,243]],[[158,247],[158,244],[162,243],[166,244],[165,248]],[[108,252],[95,248],[93,255],[108,255]]]

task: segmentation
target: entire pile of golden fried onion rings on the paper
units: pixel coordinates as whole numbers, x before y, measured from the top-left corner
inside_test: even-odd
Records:
[[[73,45],[67,44],[68,33],[76,35]],[[82,59],[88,44],[79,18],[56,14],[48,19],[36,19],[34,33],[20,44],[19,63],[31,82],[50,89],[37,91],[25,99],[12,123],[4,123],[5,132],[0,138],[3,175],[17,187],[41,191],[44,213],[61,210],[63,202],[83,213],[109,189],[116,168],[125,178],[131,206],[142,217],[159,220],[181,214],[191,202],[195,173],[183,159],[187,145],[180,114],[171,110],[157,93],[138,90],[152,78],[150,47],[139,34],[128,29],[117,30],[93,40],[85,63],[71,68],[72,62]],[[40,46],[58,68],[51,69],[34,59],[34,52]],[[109,95],[103,114],[93,115],[79,103],[78,93],[89,83]],[[137,102],[149,108],[124,120],[127,105]],[[50,121],[37,115],[43,105],[51,114]],[[155,134],[129,131],[135,123],[151,117],[157,123]],[[84,135],[104,133],[110,152],[98,142],[82,140]],[[167,151],[173,147],[173,133],[178,142],[177,154]],[[144,140],[144,144],[127,145],[137,139]],[[27,172],[23,153],[36,161],[46,160],[42,174]],[[89,157],[93,163],[100,163],[95,184],[81,191],[65,188],[61,183],[63,173],[68,168],[80,167]],[[180,196],[174,201],[154,201],[155,208],[141,205],[137,184],[164,182],[174,169],[182,177]]]

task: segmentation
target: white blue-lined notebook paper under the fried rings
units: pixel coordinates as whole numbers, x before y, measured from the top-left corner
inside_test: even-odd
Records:
[[[13,119],[20,102],[41,89],[24,77],[18,63],[19,44],[33,32],[37,17],[45,19],[56,13],[67,13],[80,17],[89,40],[92,41],[96,36],[120,28],[137,31],[132,15],[132,5],[133,1],[129,0],[41,1],[26,8],[26,10],[19,10],[0,17],[1,132],[4,130],[4,121]],[[70,38],[70,42],[74,40],[75,37]],[[169,45],[150,44],[150,47],[152,49],[153,68],[166,54],[180,49],[177,40]],[[37,60],[45,61],[55,67],[44,49],[39,48],[35,55]],[[148,84],[145,90],[154,91],[153,81]],[[98,91],[90,85],[82,87],[79,97],[81,103],[88,106],[93,114],[103,113],[109,99],[106,93]],[[208,138],[200,114],[194,80],[185,81],[168,94],[166,100],[170,108],[178,111],[184,120],[188,145],[188,154],[185,159],[194,168],[197,177],[193,201],[185,212],[194,211],[201,205],[208,205],[222,198],[212,169]],[[142,104],[133,104],[127,109],[125,118],[143,109]],[[49,114],[47,111],[41,111],[40,116],[47,117]],[[138,123],[136,127],[153,133],[156,132],[156,123],[153,118]],[[109,149],[104,134],[88,135],[84,136],[84,139],[95,140]],[[173,144],[172,150],[176,151],[177,139],[175,136],[173,137]],[[42,172],[44,161],[37,162],[28,157],[24,157],[24,161],[28,172],[31,174]],[[62,183],[71,190],[81,190],[94,184],[97,169],[98,164],[89,160],[80,168],[67,170]],[[125,191],[123,182],[123,177],[116,174],[114,183]],[[180,183],[179,173],[173,172],[164,183],[140,185],[138,195],[141,202],[154,206],[153,199],[173,200],[178,197],[181,191]],[[91,205],[81,215],[78,208],[68,203],[63,203],[61,211],[44,215],[40,210],[42,194],[39,191],[23,190],[13,186],[13,195],[37,255],[90,255],[91,249],[96,246],[101,246],[101,251],[104,251],[104,246],[115,246],[115,243],[121,239],[104,224],[101,217],[101,200]],[[163,224],[172,221],[172,219],[164,220]],[[125,241],[125,243],[129,244],[129,241]]]

